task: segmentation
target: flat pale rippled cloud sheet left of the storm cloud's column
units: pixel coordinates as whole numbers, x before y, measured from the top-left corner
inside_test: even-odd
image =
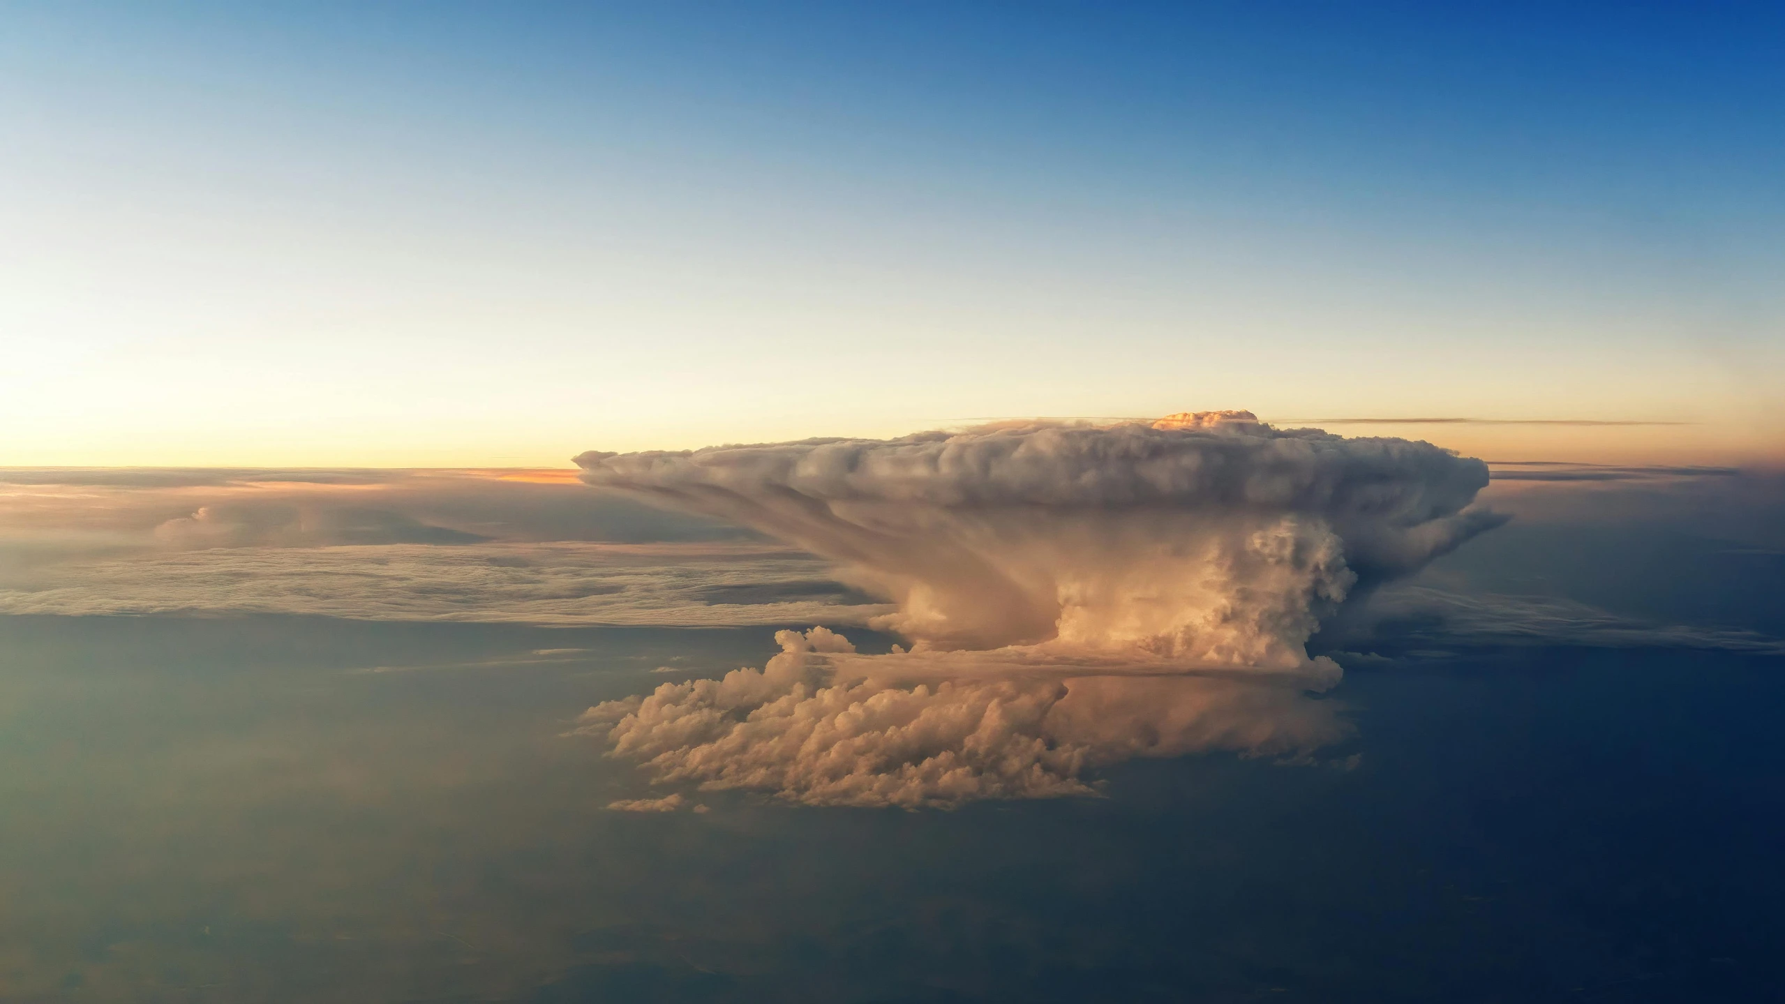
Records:
[[[300,613],[355,621],[864,624],[889,610],[760,544],[218,547],[64,562],[0,581],[0,613]]]

